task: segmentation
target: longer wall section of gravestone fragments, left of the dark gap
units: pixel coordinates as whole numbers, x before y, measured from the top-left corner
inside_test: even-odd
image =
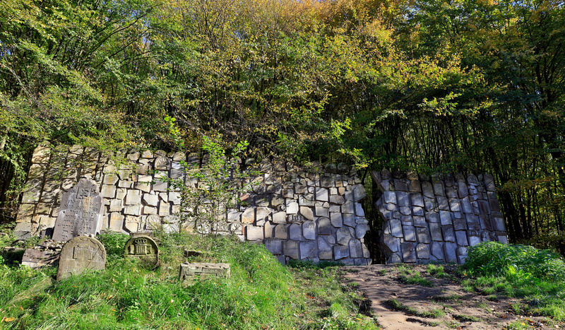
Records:
[[[61,210],[61,198],[81,177],[90,177],[103,197],[100,229],[138,232],[161,225],[179,230],[180,199],[169,191],[164,176],[183,178],[180,162],[199,163],[195,155],[151,151],[124,153],[129,165],[113,165],[92,149],[73,146],[51,154],[39,146],[32,156],[28,189],[16,219],[16,235],[49,234]],[[156,172],[151,174],[152,170]],[[247,206],[227,209],[218,225],[242,240],[263,242],[281,262],[290,259],[370,263],[364,235],[369,227],[359,201],[365,191],[355,170],[340,164],[311,167],[261,163],[261,175],[250,177],[253,191],[240,196]],[[153,182],[153,183],[152,183]]]

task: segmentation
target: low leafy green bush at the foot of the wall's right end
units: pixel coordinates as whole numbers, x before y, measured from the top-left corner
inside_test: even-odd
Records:
[[[533,276],[547,281],[565,280],[565,262],[559,254],[521,244],[477,244],[470,247],[465,266],[473,273],[484,276]]]

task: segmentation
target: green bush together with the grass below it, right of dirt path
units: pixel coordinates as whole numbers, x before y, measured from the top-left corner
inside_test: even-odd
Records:
[[[565,261],[549,250],[525,245],[484,242],[470,247],[465,269],[469,290],[520,298],[516,314],[565,319]]]

